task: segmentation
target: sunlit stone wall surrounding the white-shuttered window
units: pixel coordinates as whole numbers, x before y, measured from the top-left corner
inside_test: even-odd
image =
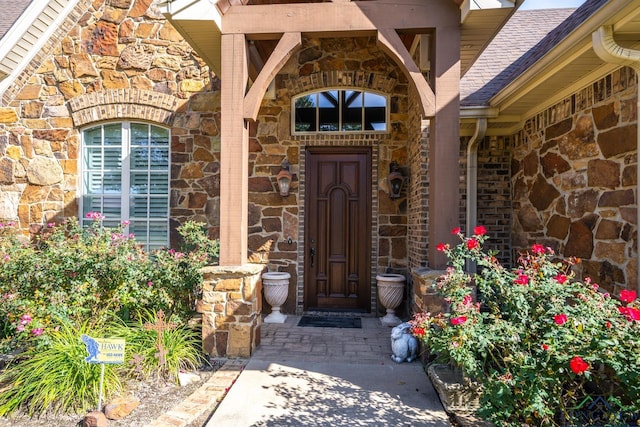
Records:
[[[0,106],[0,220],[25,234],[78,215],[80,127],[171,131],[172,229],[218,234],[218,82],[151,0],[79,1]],[[175,233],[172,233],[175,243]]]

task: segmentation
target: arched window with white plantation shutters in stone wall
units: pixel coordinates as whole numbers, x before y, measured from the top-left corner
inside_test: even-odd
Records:
[[[169,243],[169,131],[146,123],[109,123],[83,132],[81,221],[129,221],[147,250]]]

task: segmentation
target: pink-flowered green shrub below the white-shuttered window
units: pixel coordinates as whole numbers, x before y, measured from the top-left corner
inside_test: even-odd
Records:
[[[49,224],[34,242],[0,224],[0,338],[4,350],[46,344],[54,319],[101,322],[114,311],[164,310],[186,318],[200,293],[200,268],[217,256],[217,242],[202,225],[186,223],[183,253],[145,253],[122,227],[107,228],[102,215],[82,228],[71,219]],[[0,349],[2,350],[2,349]]]

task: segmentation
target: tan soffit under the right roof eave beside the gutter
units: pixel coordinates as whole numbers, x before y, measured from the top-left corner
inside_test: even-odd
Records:
[[[618,44],[640,49],[640,1],[608,1],[535,64],[519,74],[489,102],[499,116],[490,119],[488,134],[512,134],[524,120],[546,110],[619,65],[605,63],[593,50],[592,33],[613,27]],[[463,123],[463,134],[472,126]],[[468,128],[468,129],[467,129]]]

